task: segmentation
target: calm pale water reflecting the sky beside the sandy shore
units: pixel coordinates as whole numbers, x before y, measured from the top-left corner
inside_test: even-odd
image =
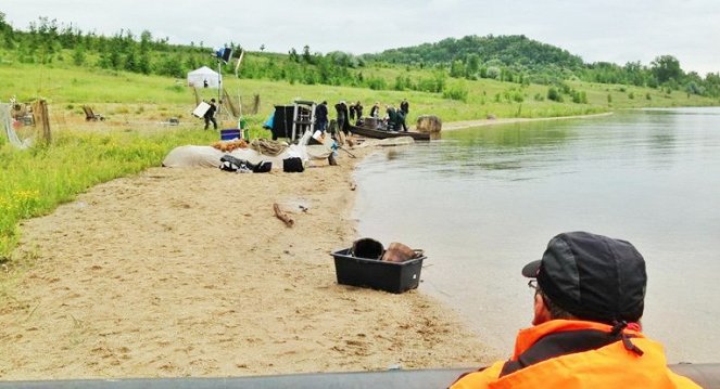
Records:
[[[356,171],[359,235],[428,256],[419,290],[509,354],[530,325],[520,269],[559,232],[645,257],[644,332],[670,363],[720,362],[720,108],[447,131]]]

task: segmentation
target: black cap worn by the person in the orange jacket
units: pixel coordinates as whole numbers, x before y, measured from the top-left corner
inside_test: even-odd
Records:
[[[627,241],[589,232],[553,237],[541,260],[522,268],[542,291],[581,320],[612,324],[643,315],[645,260]]]

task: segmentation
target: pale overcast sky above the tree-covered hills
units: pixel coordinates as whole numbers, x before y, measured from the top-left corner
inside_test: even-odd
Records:
[[[2,0],[15,28],[39,16],[111,36],[149,30],[173,43],[287,53],[375,53],[467,35],[525,35],[585,62],[644,65],[674,55],[720,72],[720,0]]]

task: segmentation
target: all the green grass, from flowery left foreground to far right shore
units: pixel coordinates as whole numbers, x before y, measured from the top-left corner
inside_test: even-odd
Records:
[[[364,77],[377,77],[393,86],[399,76],[414,80],[431,78],[430,72],[403,67],[363,68]],[[12,260],[23,219],[51,212],[58,205],[73,200],[92,185],[118,177],[138,173],[160,166],[165,155],[182,144],[210,144],[217,140],[214,131],[201,131],[202,121],[191,116],[194,93],[185,79],[137,74],[87,70],[72,66],[0,63],[0,96],[16,96],[18,102],[45,99],[49,104],[53,141],[30,150],[12,148],[0,137],[0,262]],[[251,138],[266,138],[261,128],[275,104],[289,104],[294,99],[327,100],[332,106],[340,100],[361,101],[365,114],[374,102],[399,105],[410,102],[408,124],[420,115],[435,115],[443,121],[484,119],[489,115],[505,117],[554,117],[585,115],[611,109],[645,106],[720,105],[717,100],[655,89],[568,82],[584,91],[586,104],[547,100],[546,86],[520,86],[494,80],[445,79],[446,88],[465,95],[465,100],[443,99],[442,93],[417,91],[369,90],[287,81],[238,79],[225,75],[230,98],[250,106],[255,94],[261,98],[257,114],[249,115]],[[217,96],[216,90],[198,91],[201,99]],[[467,92],[467,93],[465,93]],[[7,100],[5,100],[7,101]],[[85,124],[81,106],[89,104],[109,119]],[[331,117],[333,109],[331,108]],[[179,118],[179,128],[157,122]],[[222,127],[236,127],[225,120]]]

